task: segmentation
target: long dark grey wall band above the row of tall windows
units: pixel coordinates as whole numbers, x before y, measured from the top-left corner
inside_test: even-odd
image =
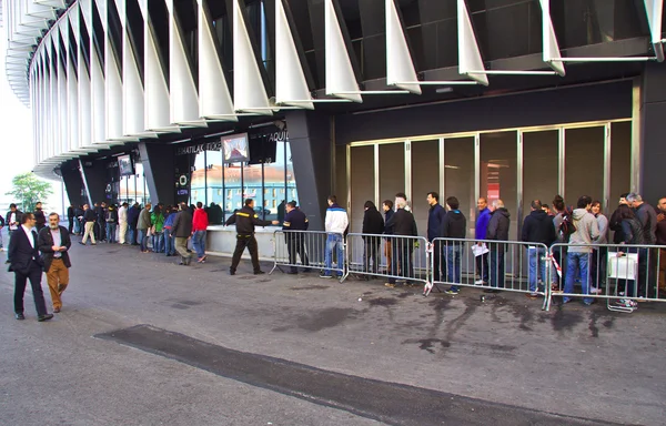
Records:
[[[485,97],[335,118],[335,142],[632,116],[632,81]],[[291,130],[290,130],[291,133]]]

